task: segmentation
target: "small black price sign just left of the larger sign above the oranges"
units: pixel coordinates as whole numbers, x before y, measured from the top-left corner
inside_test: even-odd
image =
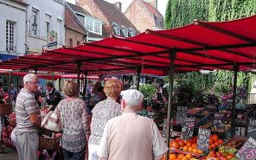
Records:
[[[182,127],[181,138],[187,140],[193,137],[195,118],[185,118],[185,122]]]

